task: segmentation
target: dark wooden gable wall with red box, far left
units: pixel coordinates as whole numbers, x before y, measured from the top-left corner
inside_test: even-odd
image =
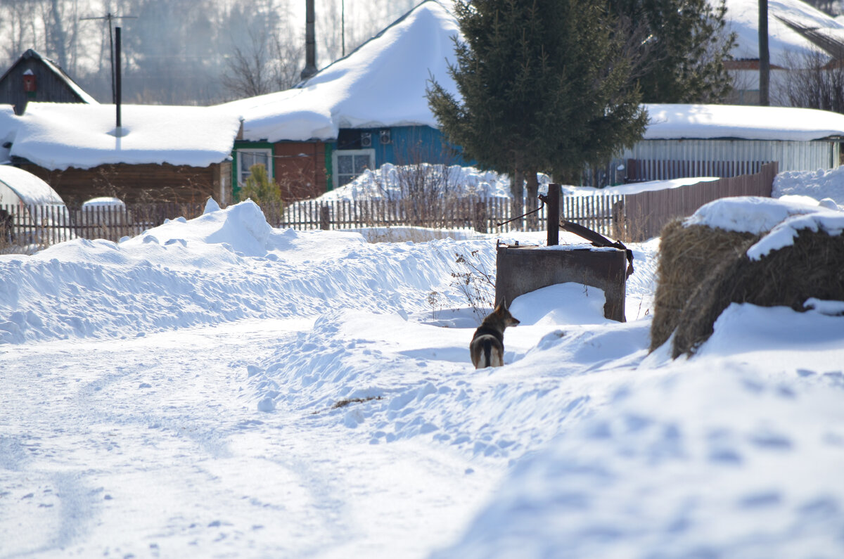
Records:
[[[24,73],[35,74],[35,92],[24,91]],[[35,57],[20,58],[0,80],[0,104],[14,105],[15,114],[24,113],[29,101],[56,103],[82,103],[79,95],[56,73]]]

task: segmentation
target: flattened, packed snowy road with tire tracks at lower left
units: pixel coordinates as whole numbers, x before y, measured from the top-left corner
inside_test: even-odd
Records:
[[[457,537],[503,472],[370,444],[339,412],[257,412],[247,366],[310,322],[6,346],[0,556],[410,557]]]

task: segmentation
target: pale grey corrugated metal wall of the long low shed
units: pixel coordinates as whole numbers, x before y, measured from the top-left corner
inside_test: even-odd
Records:
[[[838,166],[841,144],[830,141],[675,139],[642,140],[616,160],[613,168],[628,159],[676,161],[776,161],[780,171],[816,171]],[[663,178],[663,177],[654,177]]]

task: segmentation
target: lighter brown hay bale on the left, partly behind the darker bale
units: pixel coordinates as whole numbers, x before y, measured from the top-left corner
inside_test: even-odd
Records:
[[[677,328],[680,313],[701,281],[725,260],[744,254],[758,239],[751,233],[706,225],[684,227],[683,220],[665,225],[659,244],[651,350],[663,345]]]

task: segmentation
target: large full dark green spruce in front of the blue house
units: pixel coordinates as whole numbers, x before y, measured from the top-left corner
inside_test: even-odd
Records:
[[[455,14],[459,98],[432,76],[428,103],[465,159],[511,173],[516,209],[519,176],[533,209],[538,171],[579,179],[641,138],[647,115],[603,4],[458,0]]]

